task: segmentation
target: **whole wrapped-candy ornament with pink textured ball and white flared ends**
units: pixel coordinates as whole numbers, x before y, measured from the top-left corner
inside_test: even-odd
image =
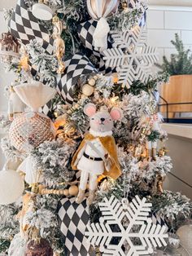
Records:
[[[38,113],[55,95],[55,89],[41,82],[28,82],[15,86],[15,92],[31,111],[17,116],[11,123],[9,135],[11,144],[20,152],[28,153],[28,157],[18,167],[24,172],[28,184],[41,182],[41,170],[36,170],[35,162],[30,152],[46,140],[55,138],[55,126],[49,117]]]

